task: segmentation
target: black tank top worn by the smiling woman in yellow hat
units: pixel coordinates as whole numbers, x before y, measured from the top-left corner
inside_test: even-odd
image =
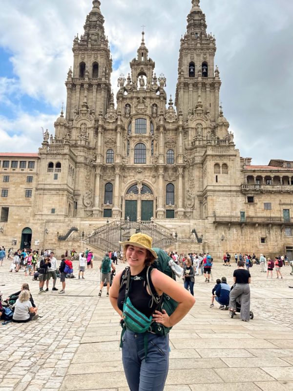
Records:
[[[140,312],[145,314],[147,317],[149,317],[154,310],[156,309],[157,305],[153,300],[152,296],[147,293],[146,290],[146,270],[147,267],[137,274],[137,277],[144,277],[144,280],[130,280],[130,286],[129,286],[129,299],[132,303],[132,305],[138,309]],[[129,271],[130,273],[130,271]],[[134,276],[131,276],[134,277]],[[122,281],[122,278],[121,278]],[[117,305],[118,308],[123,311],[123,304],[125,301],[125,290],[126,290],[126,281],[123,284],[123,286],[119,289],[118,299],[117,299]]]

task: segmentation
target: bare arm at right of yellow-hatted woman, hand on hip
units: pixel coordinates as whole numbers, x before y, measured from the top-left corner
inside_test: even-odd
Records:
[[[177,303],[179,303],[171,316],[168,316],[165,310],[162,312],[155,311],[153,314],[154,320],[166,327],[176,325],[181,321],[181,319],[185,317],[190,308],[194,305],[194,297],[191,296],[188,290],[184,289],[182,285],[179,285],[178,282],[166,276],[166,274],[160,272],[159,270],[154,269],[152,271],[151,281],[158,294],[161,295],[164,292],[173,300],[176,300]]]

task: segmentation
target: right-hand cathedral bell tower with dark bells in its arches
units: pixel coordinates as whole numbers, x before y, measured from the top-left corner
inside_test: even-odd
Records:
[[[177,111],[182,111],[184,121],[202,106],[203,112],[216,122],[221,86],[219,70],[214,68],[216,41],[207,34],[206,16],[199,2],[192,0],[187,32],[181,38],[175,105]]]

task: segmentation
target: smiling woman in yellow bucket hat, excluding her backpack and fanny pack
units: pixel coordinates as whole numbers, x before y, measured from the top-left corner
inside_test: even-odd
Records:
[[[165,293],[178,302],[177,308],[170,316],[164,309],[162,312],[156,310],[157,304],[152,300],[146,284],[147,268],[157,258],[151,244],[152,239],[141,233],[134,234],[129,241],[121,243],[129,265],[128,276],[131,275],[131,289],[127,290],[127,302],[130,299],[135,310],[140,311],[140,315],[152,316],[153,322],[159,326],[171,327],[184,318],[195,299],[176,281],[153,268],[150,280],[157,294],[161,296]],[[126,274],[125,271],[116,274],[110,289],[111,304],[120,316],[124,313],[126,299],[126,284],[122,283],[123,273]],[[126,327],[122,341],[122,361],[129,389],[163,391],[169,364],[168,334],[159,336],[148,331],[137,333]]]

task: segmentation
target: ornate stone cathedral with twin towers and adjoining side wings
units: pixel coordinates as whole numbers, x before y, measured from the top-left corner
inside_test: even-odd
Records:
[[[30,194],[24,201],[14,200],[12,183],[2,186],[7,197],[1,197],[0,235],[6,247],[15,237],[16,246],[28,238],[32,247],[64,248],[60,234],[70,227],[86,242],[116,224],[121,238],[123,222],[131,222],[134,229],[152,224],[175,238],[168,248],[178,251],[292,258],[293,162],[253,166],[251,158],[240,157],[219,105],[216,42],[200,1],[192,0],[181,38],[174,102],[166,94],[166,77],[156,73],[144,31],[114,99],[101,2],[92,3],[84,33],[73,41],[66,108],[55,134],[44,132],[37,154],[0,154],[1,163],[9,162],[5,172],[1,164],[1,174],[12,177],[13,162],[21,174],[26,162],[23,178],[33,177],[17,182]],[[23,216],[17,208],[25,202]]]

